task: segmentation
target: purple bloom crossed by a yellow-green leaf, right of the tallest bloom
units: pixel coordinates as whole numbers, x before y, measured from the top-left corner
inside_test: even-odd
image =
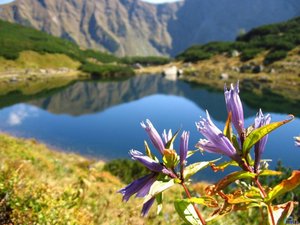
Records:
[[[266,116],[263,115],[261,109],[256,115],[255,121],[254,121],[254,128],[260,128],[262,126],[268,125],[271,122],[271,116],[270,114],[267,114]],[[265,146],[268,140],[268,135],[264,136],[262,139],[260,139],[254,146],[254,152],[255,152],[255,162],[254,162],[254,171],[257,172],[259,162],[261,160],[261,155],[265,150]]]

